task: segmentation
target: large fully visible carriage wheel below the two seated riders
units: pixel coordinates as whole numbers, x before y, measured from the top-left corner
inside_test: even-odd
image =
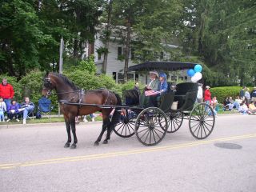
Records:
[[[165,137],[167,125],[166,114],[156,107],[149,107],[138,114],[135,134],[143,145],[154,146]]]

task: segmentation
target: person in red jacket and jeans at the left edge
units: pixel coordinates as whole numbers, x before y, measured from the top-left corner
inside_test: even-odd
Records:
[[[14,87],[7,83],[7,79],[2,79],[2,84],[0,85],[0,97],[6,103],[6,107],[10,106],[10,99],[14,97]]]

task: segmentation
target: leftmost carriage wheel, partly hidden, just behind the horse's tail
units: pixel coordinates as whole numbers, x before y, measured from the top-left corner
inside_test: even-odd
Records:
[[[134,135],[135,122],[136,118],[122,116],[121,121],[114,127],[114,133],[122,138],[130,138]]]

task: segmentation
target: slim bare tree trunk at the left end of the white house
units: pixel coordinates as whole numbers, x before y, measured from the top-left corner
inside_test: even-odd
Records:
[[[107,34],[106,34],[106,44],[105,44],[106,50],[109,50],[109,46],[110,46],[110,22],[111,22],[112,3],[113,3],[113,0],[110,0],[109,9],[107,13],[107,24],[106,24]],[[108,56],[108,52],[106,51],[106,53],[104,53],[104,58],[102,63],[103,74],[106,74],[107,56]]]

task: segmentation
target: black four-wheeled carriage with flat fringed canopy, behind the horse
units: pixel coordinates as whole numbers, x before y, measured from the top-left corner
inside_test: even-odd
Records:
[[[131,66],[129,70],[174,71],[194,68],[195,65],[189,62],[146,62]],[[198,83],[182,82],[176,85],[176,90],[170,88],[170,82],[168,85],[168,91],[162,94],[158,107],[140,107],[140,93],[126,90],[123,94],[125,105],[114,128],[115,134],[123,138],[136,134],[143,145],[154,146],[162,141],[166,133],[176,132],[187,119],[194,138],[207,138],[214,129],[215,116],[214,110],[206,103],[195,103]],[[177,107],[174,104],[178,104]]]

